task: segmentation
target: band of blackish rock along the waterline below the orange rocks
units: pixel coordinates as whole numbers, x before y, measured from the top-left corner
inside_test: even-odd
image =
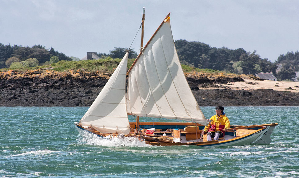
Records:
[[[31,78],[0,78],[0,106],[90,106],[108,81],[100,76],[72,78],[70,75],[40,79],[38,73]],[[216,85],[241,80],[237,77],[186,78],[200,106],[299,106],[299,93],[231,90]]]

